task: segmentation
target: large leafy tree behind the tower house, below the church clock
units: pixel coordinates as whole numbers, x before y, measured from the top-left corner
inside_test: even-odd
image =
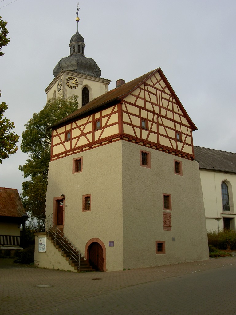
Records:
[[[50,162],[51,130],[48,126],[70,115],[78,108],[77,96],[67,99],[62,96],[49,99],[39,113],[25,124],[22,133],[21,151],[29,153],[25,165],[19,166],[24,177],[21,199],[25,210],[32,218],[45,216],[45,199]]]

